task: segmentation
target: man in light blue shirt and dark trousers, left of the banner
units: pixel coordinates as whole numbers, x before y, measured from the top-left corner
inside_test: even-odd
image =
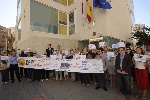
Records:
[[[10,69],[10,77],[12,80],[11,83],[14,83],[14,71],[15,71],[16,77],[18,79],[18,82],[21,82],[16,51],[13,51],[13,55],[10,56],[9,62],[10,62],[10,68],[9,68]]]

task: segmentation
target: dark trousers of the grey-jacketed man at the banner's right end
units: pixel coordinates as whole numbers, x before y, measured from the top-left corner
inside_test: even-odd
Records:
[[[106,72],[104,73],[96,73],[95,75],[95,81],[97,83],[98,87],[106,87]]]

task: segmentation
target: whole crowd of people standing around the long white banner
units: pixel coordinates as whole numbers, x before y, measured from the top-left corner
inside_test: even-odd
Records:
[[[114,52],[115,57],[107,57],[107,52]],[[140,47],[137,47],[135,53],[143,55],[143,50]],[[6,56],[7,52],[3,52],[3,55]],[[149,89],[150,81],[150,62],[149,59],[144,62],[134,61],[134,53],[130,48],[119,47],[118,49],[109,49],[107,46],[100,47],[98,49],[89,50],[88,47],[84,48],[81,52],[79,48],[75,50],[71,49],[69,54],[66,55],[62,52],[61,47],[58,45],[57,49],[51,47],[51,44],[48,45],[46,52],[44,53],[47,57],[50,55],[56,55],[56,59],[80,59],[80,55],[86,55],[87,59],[101,59],[103,62],[103,71],[104,73],[78,73],[78,72],[62,72],[55,70],[44,70],[44,69],[32,69],[32,68],[22,68],[18,67],[17,55],[13,51],[12,55],[8,60],[1,60],[3,64],[7,66],[5,70],[1,71],[2,84],[7,84],[9,81],[9,72],[11,83],[14,83],[14,72],[18,79],[18,82],[21,82],[20,78],[25,77],[28,81],[38,82],[48,80],[50,78],[50,73],[52,73],[53,79],[56,81],[72,79],[73,82],[81,81],[82,86],[90,86],[90,82],[95,82],[95,89],[98,90],[101,87],[107,91],[107,79],[110,80],[110,87],[115,88],[115,81],[118,80],[120,85],[120,91],[118,95],[125,94],[126,99],[131,99],[131,89],[133,89],[133,83],[136,83],[138,93],[136,97],[141,97],[141,100],[146,100],[147,90]],[[40,57],[36,52],[24,52],[21,51],[20,57]],[[148,71],[149,70],[149,71]]]

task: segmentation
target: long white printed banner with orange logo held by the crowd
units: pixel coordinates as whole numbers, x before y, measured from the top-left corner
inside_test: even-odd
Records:
[[[19,57],[18,66],[24,68],[80,72],[104,73],[102,60],[98,59],[63,59]]]

